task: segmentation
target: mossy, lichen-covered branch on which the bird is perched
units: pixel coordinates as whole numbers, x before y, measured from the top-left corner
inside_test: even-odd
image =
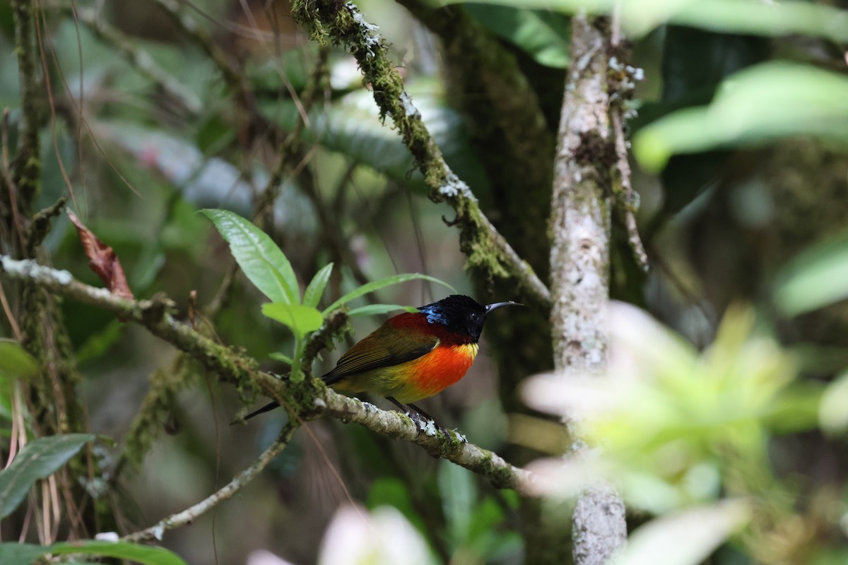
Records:
[[[114,296],[102,288],[84,285],[67,271],[51,269],[31,260],[15,260],[0,255],[0,273],[15,280],[25,280],[46,291],[105,308],[128,322],[141,324],[153,335],[187,352],[204,367],[218,372],[222,379],[238,385],[259,388],[276,399],[290,413],[293,421],[306,421],[322,414],[349,422],[356,422],[372,431],[403,439],[424,447],[433,457],[443,457],[487,477],[499,488],[531,490],[537,480],[528,471],[506,463],[492,451],[466,443],[455,432],[446,437],[437,430],[419,429],[412,420],[401,413],[377,409],[370,404],[349,398],[326,389],[320,379],[305,379],[291,383],[259,371],[257,363],[220,346],[187,324],[171,315],[172,303],[163,296],[153,300],[134,301]],[[327,326],[338,329],[343,324],[343,313],[332,313],[325,319]],[[318,343],[307,347],[304,361],[311,362],[320,349]]]

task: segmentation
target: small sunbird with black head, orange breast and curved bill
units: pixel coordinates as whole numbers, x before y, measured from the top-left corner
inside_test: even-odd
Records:
[[[466,375],[477,357],[486,317],[505,306],[522,305],[483,306],[469,296],[452,295],[418,312],[398,314],[351,347],[321,379],[338,391],[385,396],[419,424],[419,415],[433,419],[413,402],[444,391]],[[277,406],[271,402],[245,419]]]

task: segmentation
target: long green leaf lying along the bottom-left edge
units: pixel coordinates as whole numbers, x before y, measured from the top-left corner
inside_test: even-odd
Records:
[[[38,557],[48,554],[117,557],[142,565],[186,565],[181,557],[164,547],[141,546],[126,541],[62,541],[52,546],[12,542],[0,544],[0,563],[3,565],[31,565]]]

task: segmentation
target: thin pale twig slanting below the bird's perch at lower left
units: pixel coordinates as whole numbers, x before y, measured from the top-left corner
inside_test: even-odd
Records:
[[[263,451],[262,454],[256,458],[254,463],[251,463],[250,467],[244,469],[241,473],[233,477],[226,486],[217,490],[213,495],[204,498],[204,500],[199,501],[192,507],[186,508],[182,512],[171,514],[168,518],[162,518],[158,523],[147,529],[142,529],[141,531],[133,534],[125,535],[122,540],[135,543],[140,541],[162,540],[162,535],[169,529],[180,528],[181,526],[192,523],[206,512],[209,512],[212,508],[218,506],[220,502],[232,498],[232,496],[239,490],[242,490],[245,485],[248,485],[250,481],[255,479],[256,476],[268,466],[268,463],[271,463],[271,461],[274,460],[274,457],[280,455],[280,453],[286,449],[288,442],[292,440],[292,436],[297,429],[297,423],[289,422],[286,427],[282,429],[274,443],[272,443],[268,449]]]

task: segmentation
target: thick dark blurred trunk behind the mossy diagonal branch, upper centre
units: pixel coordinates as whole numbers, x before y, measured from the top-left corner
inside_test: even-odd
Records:
[[[537,91],[516,54],[462,5],[396,1],[441,40],[448,99],[463,115],[488,172],[499,230],[537,273],[546,274],[548,231],[538,219],[550,215],[555,136]],[[561,83],[559,72],[546,73],[552,86]]]

